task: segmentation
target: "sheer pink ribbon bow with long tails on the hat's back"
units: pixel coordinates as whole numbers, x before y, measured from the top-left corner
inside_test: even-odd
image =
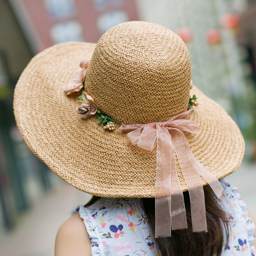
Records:
[[[187,228],[183,193],[176,173],[175,153],[189,191],[193,232],[207,232],[200,175],[210,184],[218,198],[222,195],[221,183],[194,157],[182,132],[199,131],[196,122],[183,119],[191,113],[190,109],[166,122],[122,124],[119,128],[134,130],[126,138],[145,150],[152,151],[157,143],[155,237],[170,237],[171,229]]]

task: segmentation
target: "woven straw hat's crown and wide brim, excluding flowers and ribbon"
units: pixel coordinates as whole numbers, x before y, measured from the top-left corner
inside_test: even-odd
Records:
[[[67,96],[61,89],[83,59],[91,59],[86,93],[97,109],[124,124],[166,121],[186,111],[189,94],[195,94],[199,104],[187,118],[200,131],[184,132],[191,151],[217,179],[237,170],[245,147],[242,134],[220,105],[195,86],[190,91],[184,42],[162,26],[127,22],[108,30],[97,44],[68,42],[45,49],[16,85],[14,113],[23,139],[63,180],[100,197],[155,197],[156,147],[132,145],[125,138],[128,131],[104,130],[95,116],[82,119],[75,109],[81,92]],[[176,168],[186,191],[177,159]]]

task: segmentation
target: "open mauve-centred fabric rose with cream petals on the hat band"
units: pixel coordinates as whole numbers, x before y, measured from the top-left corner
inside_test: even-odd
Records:
[[[97,112],[97,108],[94,105],[94,99],[83,92],[83,100],[76,101],[76,110],[82,118],[88,118]]]

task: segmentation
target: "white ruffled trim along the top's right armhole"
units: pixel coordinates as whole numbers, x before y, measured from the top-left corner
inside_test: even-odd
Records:
[[[234,198],[237,199],[241,210],[242,210],[242,214],[245,220],[245,231],[247,233],[247,238],[248,238],[248,243],[250,245],[250,251],[252,256],[256,256],[256,252],[255,252],[255,247],[253,246],[253,243],[255,241],[255,225],[252,221],[252,218],[248,217],[248,210],[247,210],[247,204],[240,199],[240,194],[239,194],[239,189],[237,187],[231,186],[229,184],[229,182],[227,182],[226,180],[222,179],[221,180],[222,185],[226,186],[229,190],[231,190]]]

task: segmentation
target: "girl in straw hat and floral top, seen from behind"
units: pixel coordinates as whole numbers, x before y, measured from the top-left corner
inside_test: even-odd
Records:
[[[56,256],[255,254],[247,207],[223,179],[242,161],[242,134],[190,79],[184,42],[146,22],[30,61],[14,95],[20,132],[93,195],[59,229]]]

